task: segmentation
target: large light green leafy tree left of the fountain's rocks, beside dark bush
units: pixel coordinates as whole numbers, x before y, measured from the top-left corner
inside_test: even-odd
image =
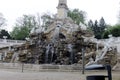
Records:
[[[38,19],[34,15],[23,15],[23,17],[18,18],[16,25],[11,32],[13,39],[24,40],[29,36],[32,28],[39,27]]]

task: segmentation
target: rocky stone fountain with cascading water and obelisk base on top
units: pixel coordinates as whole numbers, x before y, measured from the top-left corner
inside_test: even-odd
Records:
[[[94,35],[82,30],[67,17],[67,0],[59,0],[58,14],[47,30],[33,29],[30,39],[24,45],[17,47],[17,52],[10,53],[10,61],[32,64],[82,64],[82,49],[85,54],[85,64],[111,64],[117,61],[116,48],[107,44],[98,44]],[[9,55],[9,53],[8,53]],[[6,61],[7,58],[6,58]]]

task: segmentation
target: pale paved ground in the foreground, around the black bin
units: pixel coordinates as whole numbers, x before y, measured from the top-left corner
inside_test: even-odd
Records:
[[[53,72],[27,71],[18,69],[0,69],[0,80],[86,80],[87,75],[106,75],[106,71]],[[113,71],[113,80],[120,80],[120,71]],[[106,79],[107,80],[107,79]]]

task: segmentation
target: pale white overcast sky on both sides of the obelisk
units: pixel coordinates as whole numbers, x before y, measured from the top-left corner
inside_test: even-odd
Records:
[[[57,5],[58,0],[0,0],[0,13],[7,20],[7,26],[4,28],[11,31],[16,19],[23,14],[56,14]],[[94,21],[104,17],[106,23],[111,25],[118,21],[120,0],[67,0],[67,5],[70,9],[85,11],[87,20]]]

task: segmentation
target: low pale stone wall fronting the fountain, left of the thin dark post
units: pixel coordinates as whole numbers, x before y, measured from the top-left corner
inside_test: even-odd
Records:
[[[0,68],[2,69],[18,69],[22,71],[22,66],[24,70],[33,71],[80,71],[82,70],[82,65],[52,65],[52,64],[22,64],[22,63],[0,63]]]

